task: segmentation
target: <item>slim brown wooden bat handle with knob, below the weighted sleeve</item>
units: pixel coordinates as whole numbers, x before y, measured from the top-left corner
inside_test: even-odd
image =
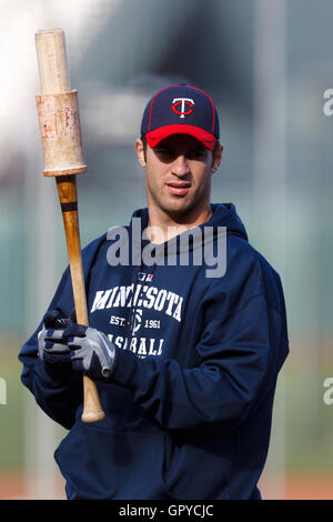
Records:
[[[69,264],[72,279],[77,322],[88,327],[88,310],[82,268],[80,229],[78,214],[77,177],[56,178],[65,232]],[[83,374],[83,422],[98,422],[105,416],[95,383]]]

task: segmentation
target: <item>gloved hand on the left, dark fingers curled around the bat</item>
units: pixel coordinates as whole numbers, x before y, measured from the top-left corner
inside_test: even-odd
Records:
[[[71,319],[59,310],[52,310],[44,315],[43,328],[38,334],[39,358],[52,377],[64,375],[71,370],[70,349],[63,339],[63,332],[70,324],[73,324]]]

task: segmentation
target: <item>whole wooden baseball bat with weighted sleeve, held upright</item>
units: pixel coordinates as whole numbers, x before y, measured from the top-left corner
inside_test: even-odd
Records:
[[[78,91],[70,90],[64,32],[61,28],[36,33],[41,82],[37,107],[44,158],[43,175],[56,177],[62,211],[77,321],[88,325],[78,215],[77,174],[87,171]],[[95,383],[83,374],[83,422],[104,419]]]

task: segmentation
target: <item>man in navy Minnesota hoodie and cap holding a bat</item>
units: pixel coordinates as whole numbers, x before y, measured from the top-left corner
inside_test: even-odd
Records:
[[[234,205],[210,202],[222,145],[205,92],[158,92],[135,149],[148,208],[82,251],[90,328],[70,319],[67,269],[22,382],[70,430],[54,454],[69,499],[260,499],[289,351],[280,278]],[[82,371],[101,422],[81,421]]]

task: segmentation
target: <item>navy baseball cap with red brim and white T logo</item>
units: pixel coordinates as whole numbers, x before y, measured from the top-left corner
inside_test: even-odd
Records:
[[[190,134],[213,150],[220,138],[219,116],[201,89],[179,83],[160,90],[148,102],[141,122],[151,149],[171,134]]]

